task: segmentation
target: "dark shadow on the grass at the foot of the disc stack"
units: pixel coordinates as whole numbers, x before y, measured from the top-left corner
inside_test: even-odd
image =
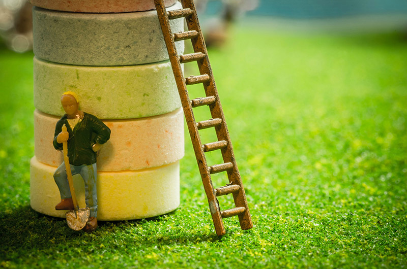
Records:
[[[173,215],[175,212],[166,215]],[[157,223],[156,225],[154,223]],[[123,243],[139,242],[145,247],[160,245],[191,245],[197,242],[218,241],[216,234],[201,234],[198,229],[166,230],[166,220],[162,216],[125,221],[100,221],[99,228],[92,234],[71,230],[64,219],[40,214],[30,206],[13,211],[0,212],[0,256],[11,258],[18,253],[36,250],[53,252],[56,246],[78,246],[81,242],[100,244],[119,235]],[[146,236],[137,231],[143,227]],[[148,230],[150,229],[151,230]],[[159,230],[159,231],[158,231]],[[106,244],[106,243],[103,243]],[[63,247],[63,248],[65,248]]]

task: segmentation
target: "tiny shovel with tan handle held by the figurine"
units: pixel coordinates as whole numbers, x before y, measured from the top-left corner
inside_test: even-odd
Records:
[[[65,124],[62,126],[62,131],[67,131],[67,126],[65,126]],[[89,208],[79,209],[78,201],[76,200],[75,188],[73,186],[71,165],[69,164],[68,158],[68,142],[63,142],[62,148],[64,150],[65,169],[67,171],[69,189],[71,190],[74,207],[74,210],[67,212],[65,216],[67,218],[68,226],[71,229],[78,231],[81,230],[88,222],[91,211]]]

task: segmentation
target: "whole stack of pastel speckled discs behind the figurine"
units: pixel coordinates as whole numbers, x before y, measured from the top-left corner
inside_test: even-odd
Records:
[[[61,96],[73,91],[79,109],[110,129],[97,157],[98,220],[158,216],[180,204],[179,161],[184,119],[152,0],[31,0],[34,26],[34,137],[31,207],[56,211],[53,173],[63,155],[52,146],[64,115]],[[167,10],[180,9],[176,0]],[[183,31],[183,20],[171,20]],[[177,43],[180,53],[182,42]],[[84,184],[73,177],[80,208]]]

